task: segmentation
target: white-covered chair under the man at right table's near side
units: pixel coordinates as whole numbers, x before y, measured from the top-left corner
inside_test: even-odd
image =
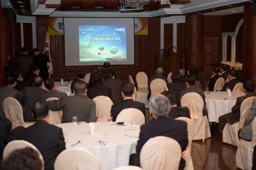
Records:
[[[248,97],[247,99],[244,99],[243,103],[240,107],[240,120],[239,122],[236,122],[235,124],[226,124],[223,132],[222,132],[222,141],[223,143],[228,143],[233,146],[238,146],[239,138],[238,138],[238,132],[240,129],[243,128],[244,120],[246,118],[246,115],[250,111],[250,108],[252,107],[253,99],[256,97]]]

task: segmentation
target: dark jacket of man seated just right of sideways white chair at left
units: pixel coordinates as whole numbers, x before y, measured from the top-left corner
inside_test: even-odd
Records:
[[[35,121],[32,113],[33,105],[41,101],[41,96],[47,93],[41,87],[26,87],[24,90],[16,94],[16,99],[19,101],[23,108],[23,117],[25,122]]]

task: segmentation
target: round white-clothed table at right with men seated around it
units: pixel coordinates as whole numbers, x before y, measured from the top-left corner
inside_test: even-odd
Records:
[[[244,96],[243,92],[232,92],[227,96],[227,92],[205,92],[205,102],[207,107],[209,122],[219,122],[219,117],[230,113],[236,104],[237,97]]]

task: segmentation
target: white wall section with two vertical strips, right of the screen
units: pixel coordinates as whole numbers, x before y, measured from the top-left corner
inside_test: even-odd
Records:
[[[186,17],[184,15],[161,18],[161,49],[164,48],[164,24],[173,24],[173,46],[177,47],[177,24],[185,22]],[[173,52],[176,50],[173,49]]]

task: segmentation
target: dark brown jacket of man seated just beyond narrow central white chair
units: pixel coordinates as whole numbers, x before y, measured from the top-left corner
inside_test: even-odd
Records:
[[[103,86],[111,90],[112,101],[114,104],[122,101],[122,81],[119,78],[109,78],[103,82]]]

